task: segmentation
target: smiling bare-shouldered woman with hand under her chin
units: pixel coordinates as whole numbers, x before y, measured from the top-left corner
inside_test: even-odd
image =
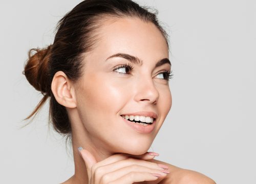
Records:
[[[130,0],[86,0],[54,42],[32,49],[24,74],[59,133],[72,139],[75,174],[63,183],[215,183],[147,152],[172,106],[167,34]],[[35,52],[34,52],[35,51]]]

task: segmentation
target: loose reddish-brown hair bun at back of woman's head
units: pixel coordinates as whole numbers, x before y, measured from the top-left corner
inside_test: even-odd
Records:
[[[48,81],[48,62],[51,54],[51,46],[45,49],[30,49],[28,60],[24,66],[23,74],[29,83],[43,95],[49,95]]]

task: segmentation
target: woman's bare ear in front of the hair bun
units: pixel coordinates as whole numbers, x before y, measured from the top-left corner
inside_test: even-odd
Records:
[[[69,108],[76,107],[74,85],[72,85],[64,72],[58,71],[55,73],[51,88],[52,93],[59,104]]]

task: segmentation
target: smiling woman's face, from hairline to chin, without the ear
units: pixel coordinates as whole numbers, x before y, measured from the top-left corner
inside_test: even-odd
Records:
[[[164,59],[167,44],[154,24],[138,18],[116,18],[104,24],[99,34],[95,49],[84,55],[86,65],[76,86],[79,118],[84,136],[91,141],[87,144],[111,153],[145,153],[172,106],[164,74],[170,71]],[[143,64],[136,64],[136,59]],[[132,70],[123,65],[131,65]],[[154,117],[154,113],[154,128],[129,124],[121,116]]]

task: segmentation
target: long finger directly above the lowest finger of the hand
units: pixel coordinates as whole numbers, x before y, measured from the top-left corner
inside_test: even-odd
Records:
[[[165,171],[165,170],[163,170],[163,171]],[[132,166],[120,168],[113,172],[105,173],[104,175],[102,175],[101,178],[96,178],[95,181],[97,181],[97,183],[109,183],[111,181],[114,181],[118,178],[123,177],[124,175],[126,175],[127,173],[130,173],[130,172],[155,173],[155,174],[159,174],[161,177],[165,177],[167,175],[166,173],[161,172],[158,169],[152,169],[152,168],[139,166],[139,165],[132,165]]]

